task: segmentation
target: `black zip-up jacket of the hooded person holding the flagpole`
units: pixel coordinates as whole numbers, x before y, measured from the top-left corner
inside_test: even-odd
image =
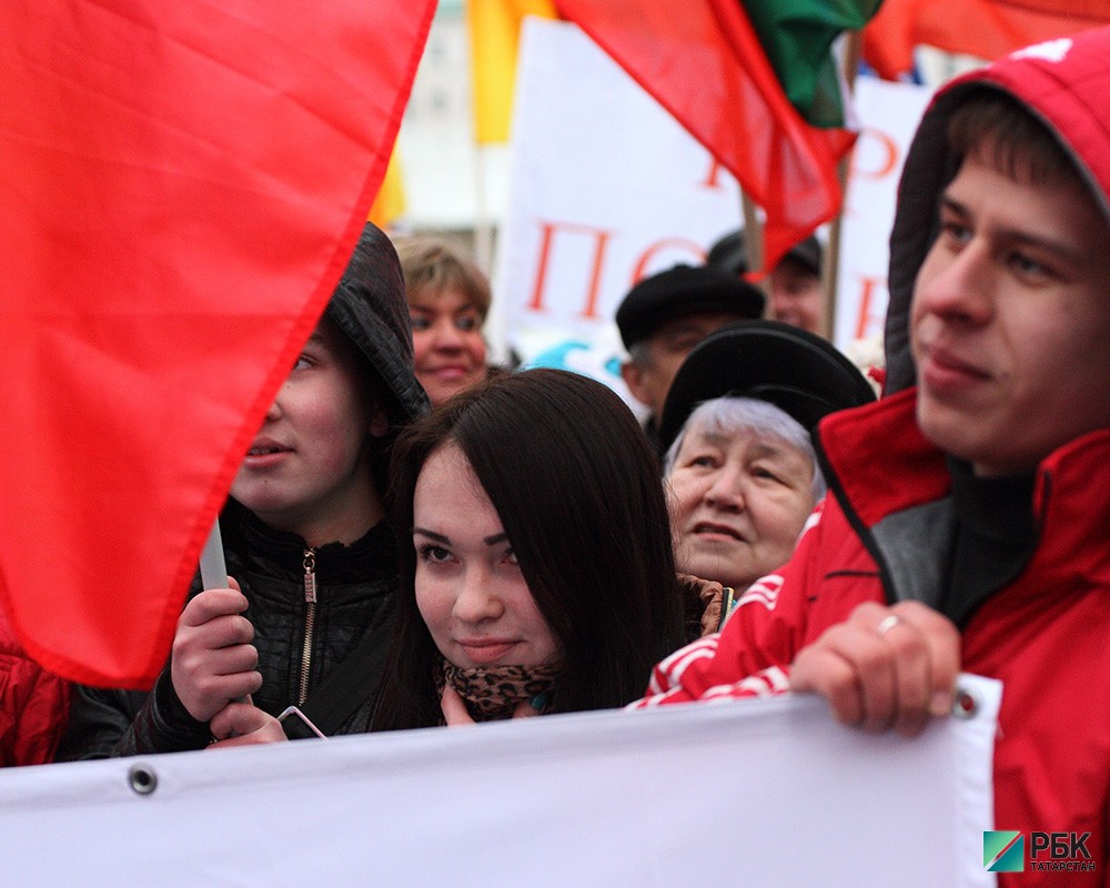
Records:
[[[276,716],[300,702],[305,634],[305,546],[293,534],[273,531],[233,501],[221,517],[229,573],[250,601],[262,689],[260,709]],[[312,693],[370,630],[386,647],[393,630],[397,588],[396,546],[382,522],[351,546],[331,543],[313,552],[316,606],[306,690]],[[371,678],[376,688],[381,669]],[[367,730],[376,694],[366,696],[339,734]],[[151,694],[78,686],[58,760],[201,749],[208,724],[185,712],[169,667]]]

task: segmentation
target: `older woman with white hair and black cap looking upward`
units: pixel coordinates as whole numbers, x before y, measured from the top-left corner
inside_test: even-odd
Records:
[[[696,593],[688,636],[789,559],[825,495],[810,430],[874,398],[833,345],[778,322],[734,324],[690,352],[659,425],[675,558]]]

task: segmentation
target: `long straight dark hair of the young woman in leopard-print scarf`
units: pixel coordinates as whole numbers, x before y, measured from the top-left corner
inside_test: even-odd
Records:
[[[565,660],[554,712],[622,706],[683,643],[682,598],[658,463],[609,389],[559,370],[495,379],[405,430],[391,517],[401,596],[375,730],[441,724],[441,654],[416,608],[413,494],[427,458],[456,445],[501,517]]]

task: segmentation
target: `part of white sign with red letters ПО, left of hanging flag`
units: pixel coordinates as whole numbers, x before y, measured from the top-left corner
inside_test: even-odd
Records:
[[[741,223],[739,189],[574,24],[525,20],[515,97],[494,275],[505,341],[629,400],[617,305],[646,274],[704,262]]]

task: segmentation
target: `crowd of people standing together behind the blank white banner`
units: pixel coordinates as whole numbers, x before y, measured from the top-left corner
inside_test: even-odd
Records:
[[[618,310],[644,426],[585,376],[491,370],[482,273],[367,225],[232,485],[228,586],[196,584],[149,693],[69,687],[6,630],[2,763],[784,692],[912,736],[963,669],[1005,685],[997,823],[1088,834],[1101,869],[1108,75],[1097,30],[938,92],[879,398],[819,310],[769,311],[743,239]]]

